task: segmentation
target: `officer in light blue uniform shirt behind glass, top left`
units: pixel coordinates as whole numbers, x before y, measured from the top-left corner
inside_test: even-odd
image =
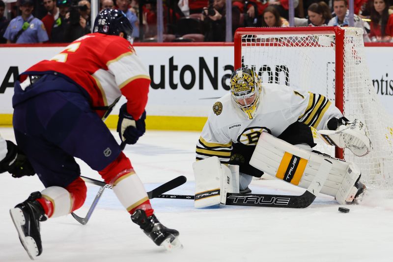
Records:
[[[12,19],[4,32],[7,43],[29,44],[48,41],[44,24],[31,14],[34,9],[33,0],[20,0],[19,9],[22,15]]]

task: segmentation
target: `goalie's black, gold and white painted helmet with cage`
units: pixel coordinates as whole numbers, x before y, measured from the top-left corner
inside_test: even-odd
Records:
[[[230,78],[232,100],[249,119],[255,116],[261,89],[261,79],[252,69],[241,67],[232,73]]]

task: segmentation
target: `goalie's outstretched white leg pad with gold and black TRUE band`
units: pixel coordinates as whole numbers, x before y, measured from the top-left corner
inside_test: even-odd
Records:
[[[321,193],[333,196],[344,204],[351,196],[359,170],[352,164],[324,154],[292,146],[266,132],[262,133],[250,164],[276,178],[302,188],[309,188],[325,159],[332,162]]]

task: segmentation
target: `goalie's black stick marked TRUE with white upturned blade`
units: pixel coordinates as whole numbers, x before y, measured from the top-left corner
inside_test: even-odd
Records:
[[[314,179],[311,181],[308,189],[300,196],[290,195],[270,195],[270,194],[244,194],[244,193],[227,193],[225,205],[241,206],[259,206],[259,207],[287,207],[287,208],[305,208],[314,202],[316,196],[326,181],[327,175],[332,169],[332,162],[324,159],[319,167]],[[162,194],[157,198],[168,199],[191,199],[191,195],[170,195]]]

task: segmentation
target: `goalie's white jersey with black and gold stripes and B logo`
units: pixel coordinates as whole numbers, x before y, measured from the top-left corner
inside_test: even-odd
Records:
[[[299,121],[317,130],[328,129],[340,111],[326,97],[277,84],[262,84],[253,119],[248,119],[232,100],[230,93],[217,100],[197,142],[197,160],[219,157],[230,159],[232,143],[255,146],[261,132],[278,137],[289,125]]]

